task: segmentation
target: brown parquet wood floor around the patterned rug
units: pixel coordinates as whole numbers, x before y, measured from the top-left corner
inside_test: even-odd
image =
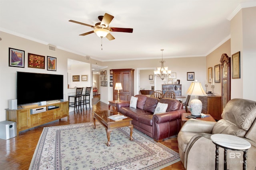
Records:
[[[92,122],[92,111],[102,109],[108,109],[108,105],[98,102],[90,110],[87,109],[86,111],[84,109],[82,113],[81,111],[78,113],[74,111],[70,112],[68,120],[67,118],[62,118],[60,121],[52,121],[26,131],[21,131],[19,136],[12,139],[0,139],[0,170],[28,170],[44,127]],[[171,137],[161,143],[178,152],[177,137]],[[179,161],[162,170],[185,170],[185,168]]]

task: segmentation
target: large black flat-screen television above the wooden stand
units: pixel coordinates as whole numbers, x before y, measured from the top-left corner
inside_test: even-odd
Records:
[[[63,99],[63,75],[17,72],[17,104]]]

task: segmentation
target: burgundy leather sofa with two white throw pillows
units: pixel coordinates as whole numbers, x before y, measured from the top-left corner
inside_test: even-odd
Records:
[[[186,112],[182,103],[170,98],[159,100],[146,95],[136,95],[134,97],[138,97],[136,109],[130,107],[130,102],[117,104],[118,112],[133,119],[134,128],[157,142],[178,134],[181,128],[181,113]],[[158,102],[168,104],[168,107],[165,113],[153,115]]]

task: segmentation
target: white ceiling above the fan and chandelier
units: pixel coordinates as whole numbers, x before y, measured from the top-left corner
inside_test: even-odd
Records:
[[[206,56],[230,38],[230,19],[256,0],[0,0],[0,31],[55,45],[99,61]],[[133,28],[101,39],[90,25]],[[57,49],[57,50],[58,50]]]

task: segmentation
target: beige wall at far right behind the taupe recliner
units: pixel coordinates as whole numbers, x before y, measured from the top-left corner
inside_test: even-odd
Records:
[[[256,101],[254,88],[256,86],[256,18],[254,16],[256,16],[256,7],[243,8],[231,20],[231,54],[240,51],[241,71],[241,78],[231,79],[231,98]]]

